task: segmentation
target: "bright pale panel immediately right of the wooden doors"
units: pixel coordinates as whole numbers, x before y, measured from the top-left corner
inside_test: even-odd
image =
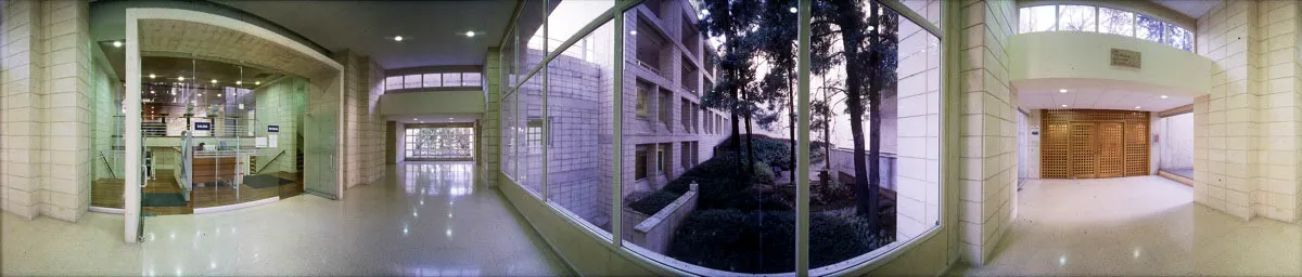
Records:
[[[1163,117],[1156,127],[1159,168],[1194,178],[1194,113]]]

